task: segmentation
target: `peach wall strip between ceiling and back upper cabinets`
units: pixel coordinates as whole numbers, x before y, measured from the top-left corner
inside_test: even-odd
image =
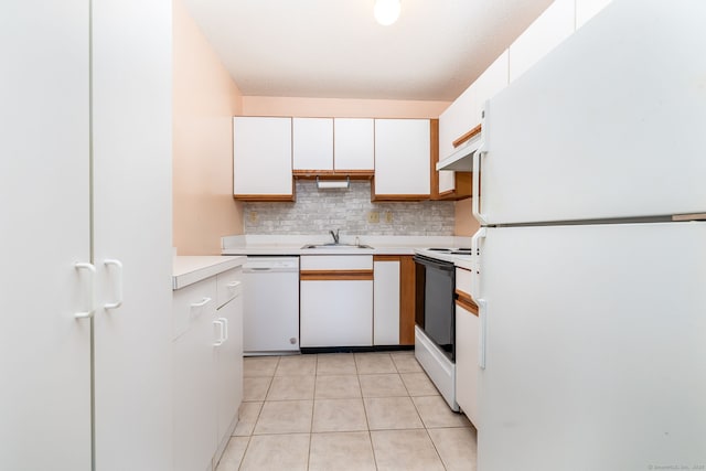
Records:
[[[244,96],[243,116],[436,119],[450,101]]]

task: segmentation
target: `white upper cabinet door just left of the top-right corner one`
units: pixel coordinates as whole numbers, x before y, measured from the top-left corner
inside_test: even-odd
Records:
[[[510,46],[510,82],[574,33],[575,0],[556,0]]]

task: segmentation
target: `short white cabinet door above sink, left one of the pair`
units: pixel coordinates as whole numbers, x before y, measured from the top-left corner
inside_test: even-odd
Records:
[[[333,119],[292,118],[295,170],[333,170]]]

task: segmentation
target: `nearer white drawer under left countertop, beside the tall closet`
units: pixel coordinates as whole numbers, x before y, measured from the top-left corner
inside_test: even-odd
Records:
[[[172,339],[189,331],[194,319],[214,315],[216,302],[216,277],[172,291]]]

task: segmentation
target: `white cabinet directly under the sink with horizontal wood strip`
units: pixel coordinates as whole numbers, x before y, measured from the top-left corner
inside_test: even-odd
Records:
[[[300,345],[373,344],[373,257],[302,256]]]

